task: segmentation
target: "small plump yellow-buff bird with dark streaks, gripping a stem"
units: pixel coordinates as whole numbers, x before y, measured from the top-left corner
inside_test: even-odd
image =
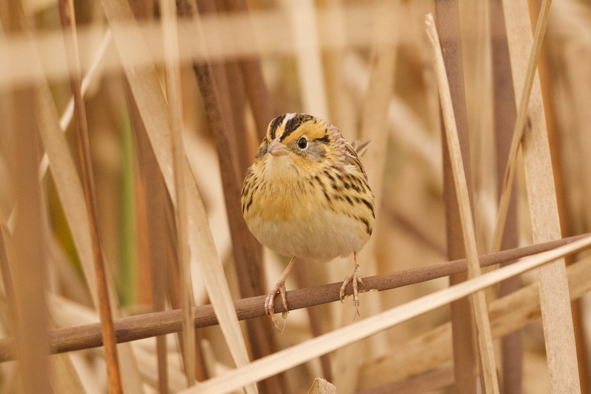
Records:
[[[353,254],[353,273],[345,277],[339,298],[342,302],[351,282],[355,317],[359,314],[358,255],[374,229],[374,201],[358,152],[335,126],[305,113],[285,113],[269,123],[246,170],[241,204],[255,238],[291,257],[265,299],[277,330],[275,295],[287,311],[285,279],[297,259],[323,263]]]

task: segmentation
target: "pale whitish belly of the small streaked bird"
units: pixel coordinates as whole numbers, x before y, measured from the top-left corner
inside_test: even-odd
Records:
[[[284,256],[318,262],[359,252],[369,237],[363,236],[365,226],[358,220],[329,210],[317,211],[313,217],[296,222],[253,217],[248,227],[267,248]]]

